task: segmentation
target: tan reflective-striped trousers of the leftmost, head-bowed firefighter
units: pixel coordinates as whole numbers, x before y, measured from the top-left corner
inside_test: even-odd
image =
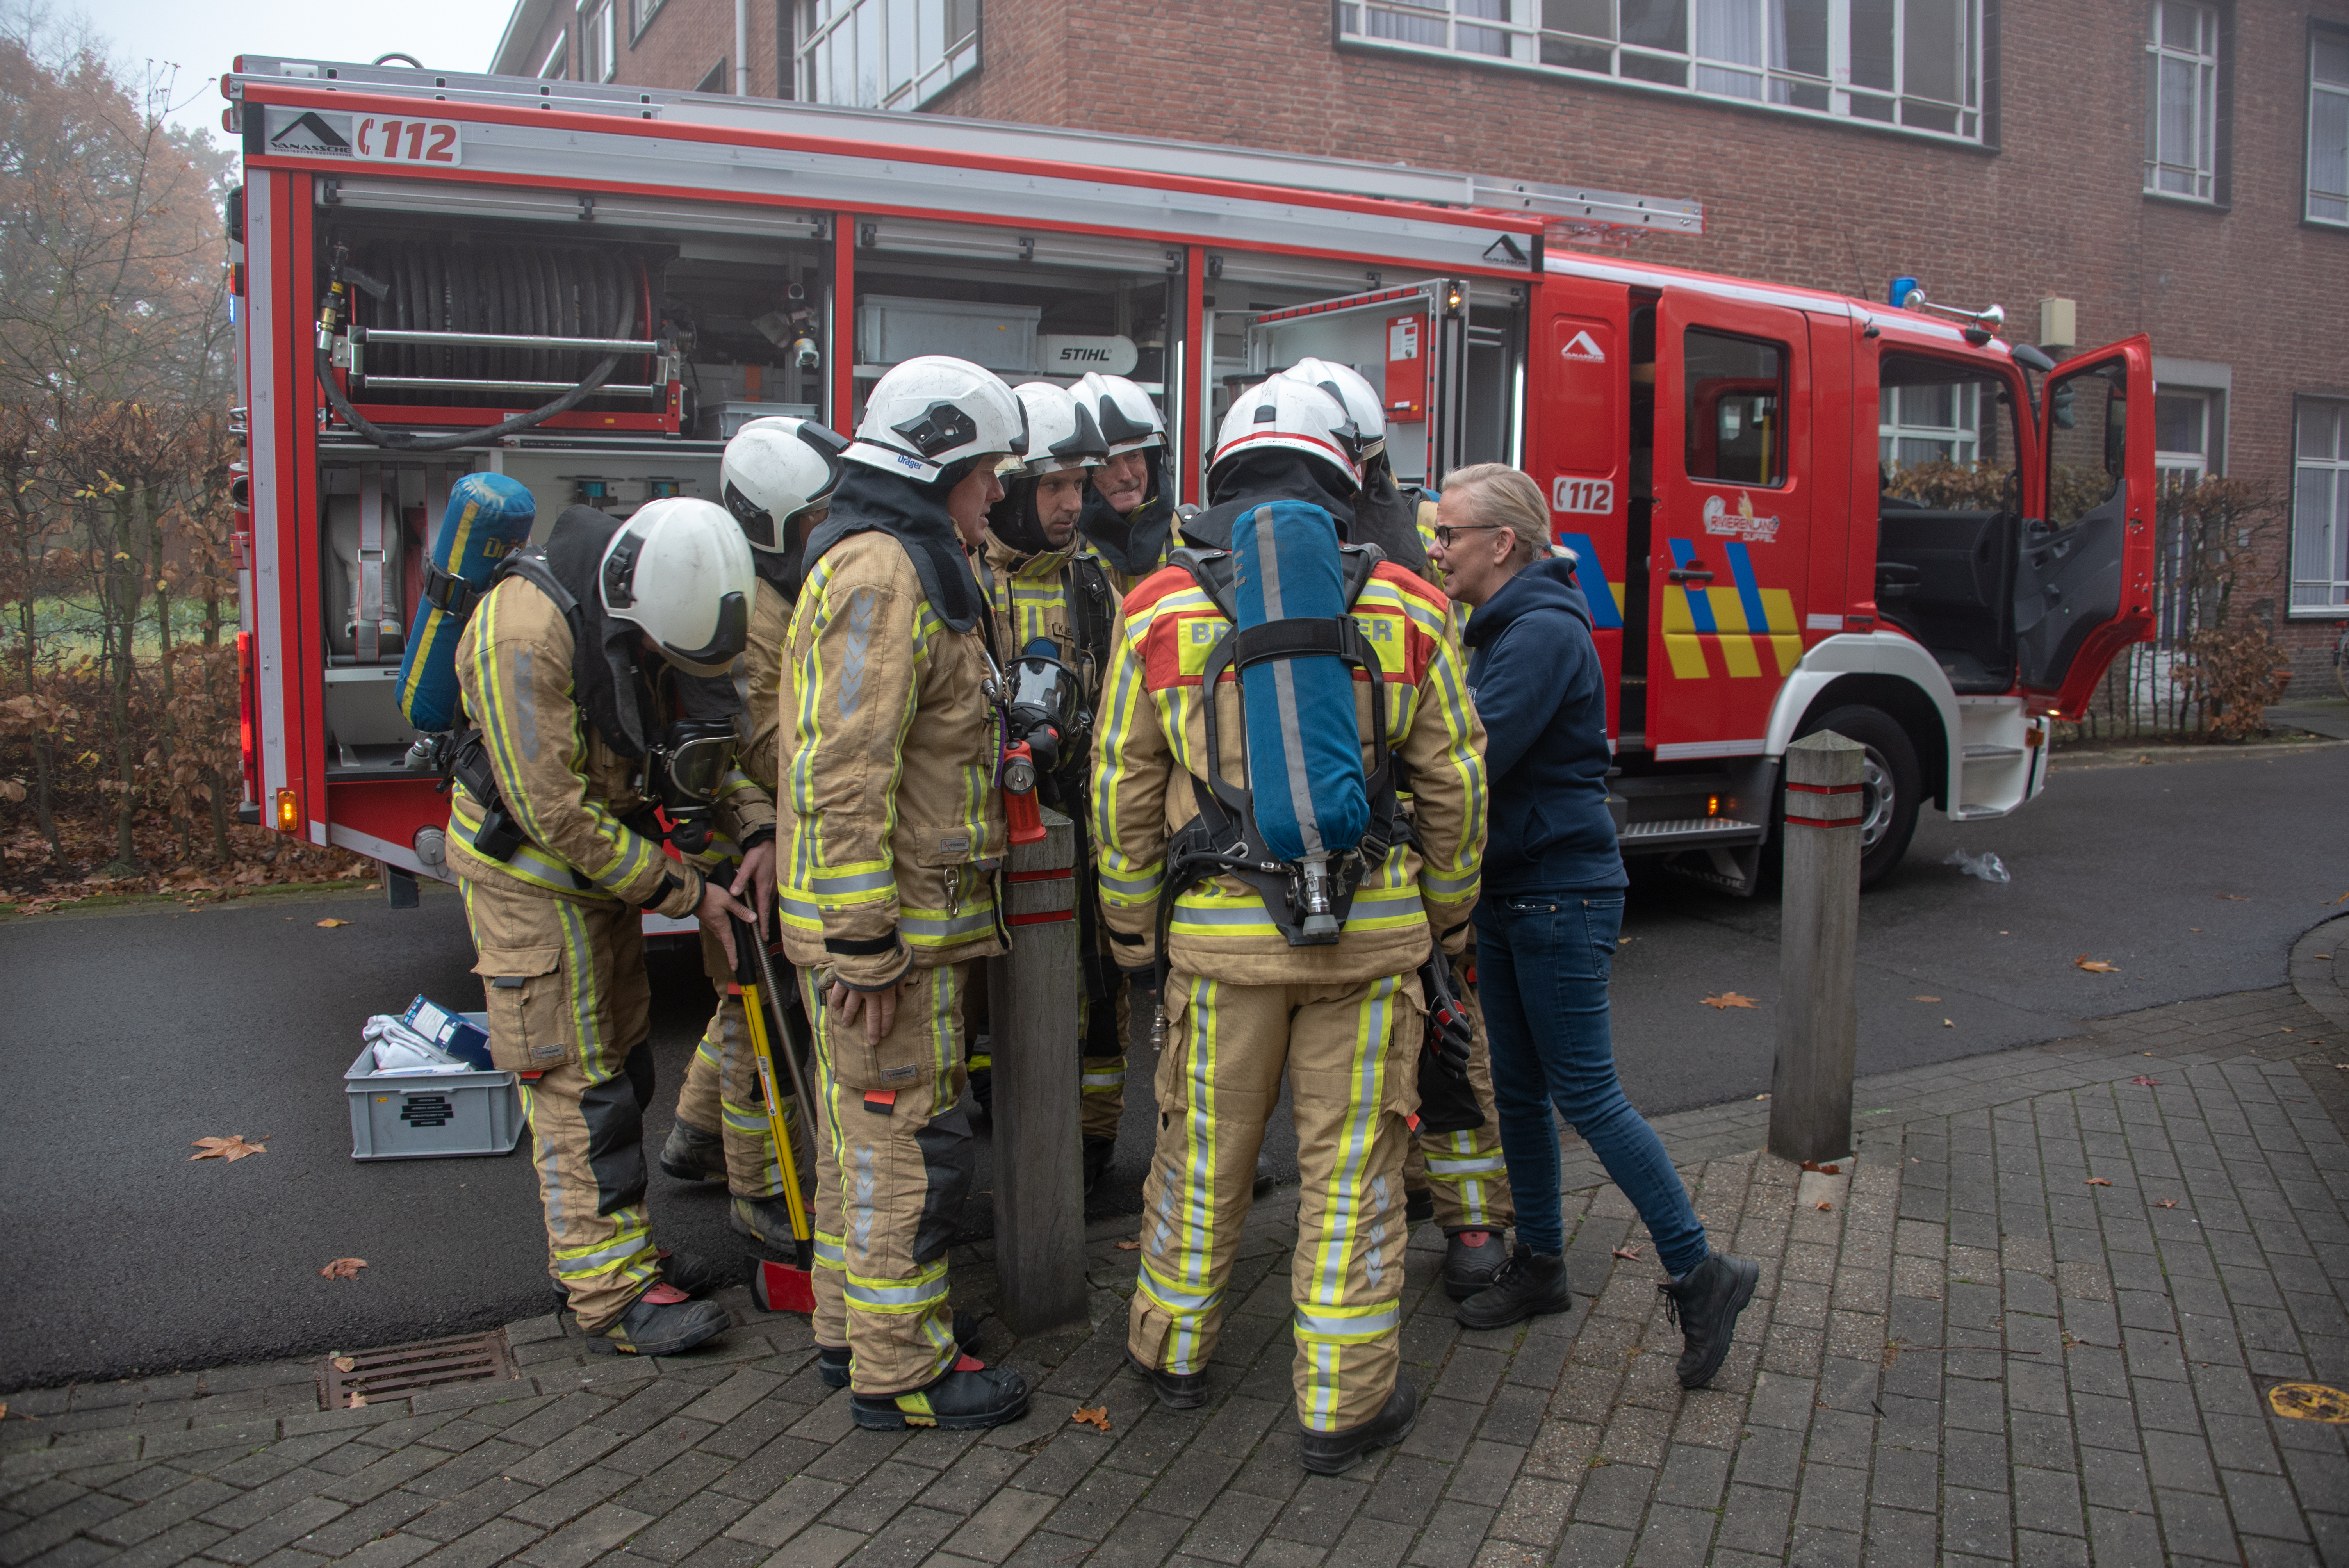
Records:
[[[521,1073],[554,1279],[601,1333],[660,1275],[644,1211],[653,1099],[644,915],[510,880],[463,878],[489,993],[491,1059]]]

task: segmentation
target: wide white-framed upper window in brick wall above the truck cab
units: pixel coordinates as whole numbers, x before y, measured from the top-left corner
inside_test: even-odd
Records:
[[[1337,31],[1983,138],[1980,0],[1344,0]]]

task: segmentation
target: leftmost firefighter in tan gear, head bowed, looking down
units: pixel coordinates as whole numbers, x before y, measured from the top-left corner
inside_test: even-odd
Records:
[[[726,1329],[716,1284],[653,1246],[644,911],[731,918],[773,887],[775,812],[731,768],[728,667],[756,592],[749,545],[705,500],[625,523],[571,507],[500,568],[458,641],[465,732],[449,866],[489,993],[491,1056],[521,1075],[557,1286],[597,1350],[674,1354]],[[669,859],[653,807],[745,845],[726,883]]]

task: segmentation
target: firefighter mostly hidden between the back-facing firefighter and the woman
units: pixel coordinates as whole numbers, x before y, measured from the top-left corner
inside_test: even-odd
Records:
[[[1386,413],[1369,380],[1334,359],[1299,359],[1283,376],[1327,390],[1346,404],[1346,415],[1355,425],[1362,488],[1353,498],[1351,538],[1377,542],[1388,559],[1442,587],[1442,573],[1426,556],[1426,545],[1435,538],[1431,533],[1435,507],[1395,488],[1386,453]],[[1414,549],[1419,566],[1412,566]],[[1466,622],[1466,606],[1454,603],[1445,615],[1445,641],[1452,643],[1452,657],[1461,669],[1468,667],[1461,646]],[[1419,1084],[1419,1127],[1402,1176],[1412,1223],[1435,1221],[1445,1232],[1445,1293],[1452,1300],[1468,1300],[1492,1284],[1501,1261],[1508,1258],[1506,1232],[1517,1218],[1517,1204],[1508,1195],[1508,1164],[1501,1160],[1501,1113],[1492,1099],[1485,1009],[1475,998],[1475,927],[1466,934],[1466,948],[1452,958],[1452,991],[1473,1038],[1468,1077]]]

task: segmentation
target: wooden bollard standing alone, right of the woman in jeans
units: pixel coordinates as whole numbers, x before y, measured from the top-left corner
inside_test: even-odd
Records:
[[[1769,1087],[1769,1153],[1781,1160],[1851,1153],[1865,758],[1865,746],[1832,730],[1785,749],[1778,1066]]]

